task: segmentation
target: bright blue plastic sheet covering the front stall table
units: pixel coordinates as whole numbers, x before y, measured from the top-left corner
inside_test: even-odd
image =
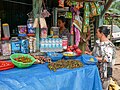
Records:
[[[0,72],[0,90],[102,90],[96,65],[50,71],[47,64]]]

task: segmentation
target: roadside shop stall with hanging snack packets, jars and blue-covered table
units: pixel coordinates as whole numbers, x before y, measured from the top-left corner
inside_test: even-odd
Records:
[[[27,24],[17,27],[17,37],[10,37],[9,25],[2,24],[0,53],[9,59],[0,61],[0,88],[102,90],[97,60],[84,54],[90,35],[94,39],[95,17],[101,14],[101,1],[58,0],[58,7],[52,12],[45,3],[33,0],[33,11],[28,13]],[[50,16],[51,26],[46,19]],[[69,21],[70,40],[59,37],[59,16]]]

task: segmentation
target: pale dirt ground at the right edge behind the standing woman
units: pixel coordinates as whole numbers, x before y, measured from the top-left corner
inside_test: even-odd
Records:
[[[120,85],[120,48],[116,51],[116,61],[115,66],[113,67],[113,78]]]

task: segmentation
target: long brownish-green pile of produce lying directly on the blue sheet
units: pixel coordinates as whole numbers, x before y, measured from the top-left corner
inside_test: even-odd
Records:
[[[60,68],[74,69],[79,67],[83,67],[83,64],[78,60],[59,60],[48,64],[48,68],[53,71]]]

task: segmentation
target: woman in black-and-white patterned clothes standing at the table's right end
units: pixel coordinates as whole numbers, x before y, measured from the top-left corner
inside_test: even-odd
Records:
[[[106,26],[101,26],[97,29],[96,35],[99,40],[92,52],[85,52],[95,56],[98,60],[98,68],[100,71],[101,80],[103,82],[103,90],[108,90],[110,77],[112,76],[112,66],[115,62],[115,46],[107,38],[110,30]]]

